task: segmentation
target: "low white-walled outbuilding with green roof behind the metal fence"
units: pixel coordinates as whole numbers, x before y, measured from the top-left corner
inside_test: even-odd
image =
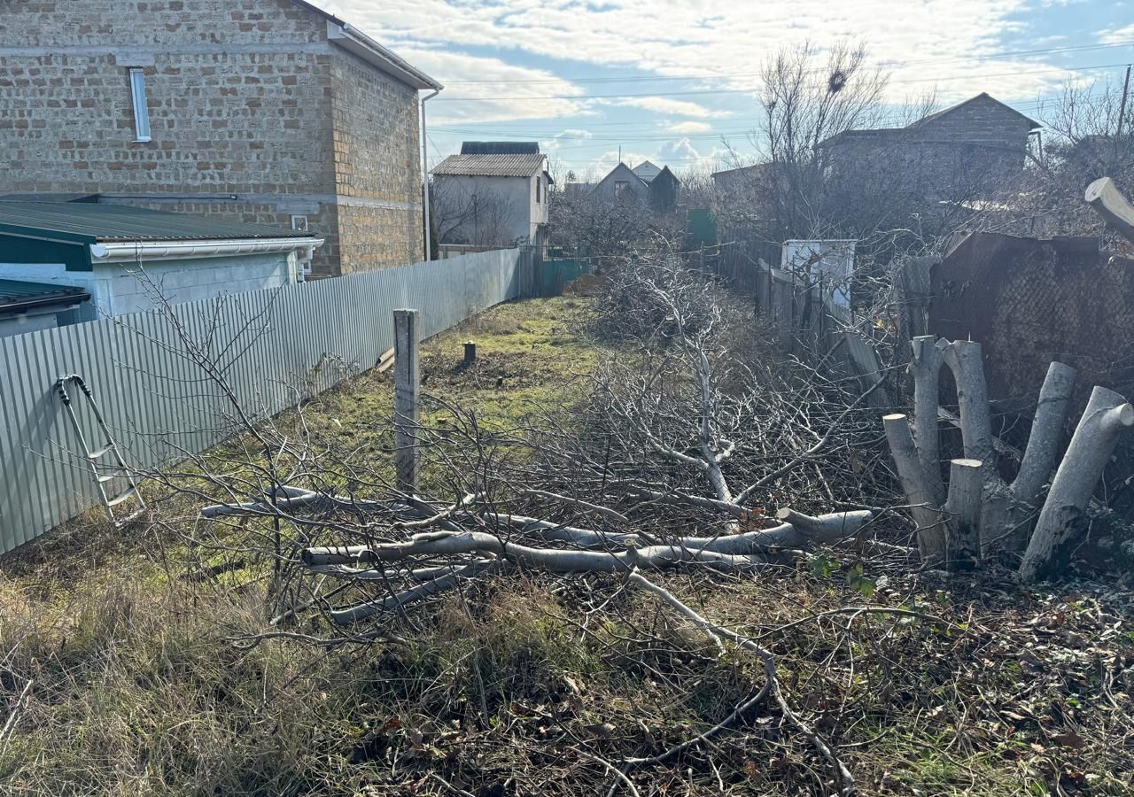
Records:
[[[0,280],[8,286],[0,290],[0,321],[6,333],[26,332],[153,310],[154,289],[179,303],[278,288],[303,279],[322,243],[298,230],[215,215],[0,202]],[[25,297],[25,305],[35,303],[26,307],[35,312],[19,322],[23,329],[6,317],[14,305],[3,297],[19,294],[14,281],[25,283],[19,290],[33,297]],[[64,292],[51,292],[59,289]]]

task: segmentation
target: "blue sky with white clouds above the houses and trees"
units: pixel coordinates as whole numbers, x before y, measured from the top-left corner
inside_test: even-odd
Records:
[[[988,92],[1043,120],[1068,82],[1119,84],[1134,0],[316,0],[445,84],[428,160],[538,141],[552,173],[760,159],[759,74],[782,46],[862,43],[897,119]],[[1134,93],[1134,88],[1132,88]]]

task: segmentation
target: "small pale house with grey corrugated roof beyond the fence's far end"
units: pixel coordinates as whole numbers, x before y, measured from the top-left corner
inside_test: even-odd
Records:
[[[544,155],[449,155],[430,173],[440,244],[543,241],[551,184]]]

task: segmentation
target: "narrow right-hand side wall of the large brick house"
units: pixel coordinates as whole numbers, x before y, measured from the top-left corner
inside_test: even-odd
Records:
[[[417,92],[341,52],[331,104],[342,272],[423,260]]]

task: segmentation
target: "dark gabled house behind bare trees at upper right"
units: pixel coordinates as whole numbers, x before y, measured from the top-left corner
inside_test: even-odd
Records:
[[[846,130],[820,142],[833,179],[858,180],[878,170],[907,176],[938,196],[979,193],[1024,169],[1029,138],[1040,122],[979,94],[900,128]]]

